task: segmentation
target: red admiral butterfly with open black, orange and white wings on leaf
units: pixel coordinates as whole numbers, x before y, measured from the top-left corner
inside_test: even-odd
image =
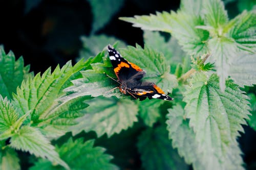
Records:
[[[120,86],[116,87],[126,94],[129,93],[135,99],[145,100],[149,99],[162,99],[165,101],[172,101],[173,98],[166,95],[161,88],[152,82],[142,82],[141,79],[145,76],[146,72],[139,66],[125,60],[112,46],[108,46],[109,56],[113,65],[117,81]],[[113,78],[112,78],[113,79]]]

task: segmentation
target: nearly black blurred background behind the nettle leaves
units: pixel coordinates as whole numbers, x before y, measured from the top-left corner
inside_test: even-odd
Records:
[[[117,1],[109,2],[115,6]],[[230,18],[241,12],[239,1],[228,0],[225,4]],[[25,65],[30,64],[36,74],[50,66],[62,66],[68,60],[74,62],[82,47],[82,35],[105,34],[129,45],[143,45],[143,32],[118,17],[177,10],[179,5],[178,0],[123,0],[110,20],[92,31],[94,16],[89,0],[0,0],[0,44],[6,53],[12,50],[16,59],[23,56]],[[244,129],[239,142],[248,169],[253,169],[256,167],[256,133],[248,126]]]

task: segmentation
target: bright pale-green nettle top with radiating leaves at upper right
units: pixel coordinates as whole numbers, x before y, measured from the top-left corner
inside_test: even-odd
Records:
[[[216,64],[223,91],[225,80],[230,76],[229,68],[233,67],[231,61],[240,53],[237,48],[255,53],[254,18],[255,11],[245,11],[228,21],[227,12],[220,0],[195,3],[187,0],[181,3],[181,9],[177,13],[158,12],[157,15],[121,17],[120,19],[132,22],[133,26],[143,30],[171,33],[189,55],[198,57],[209,52],[211,54],[209,60]],[[252,83],[253,81],[248,84]]]

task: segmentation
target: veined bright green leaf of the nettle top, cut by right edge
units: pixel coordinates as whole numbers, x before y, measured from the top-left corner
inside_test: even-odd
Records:
[[[230,20],[232,27],[228,31],[228,36],[232,37],[242,50],[256,52],[256,12],[244,11],[234,19]]]

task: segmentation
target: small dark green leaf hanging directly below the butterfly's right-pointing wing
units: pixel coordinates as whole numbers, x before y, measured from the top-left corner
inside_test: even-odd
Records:
[[[160,117],[160,106],[164,103],[163,100],[150,100],[146,99],[140,101],[139,105],[139,115],[143,119],[147,126],[152,127],[154,123],[157,122]]]

